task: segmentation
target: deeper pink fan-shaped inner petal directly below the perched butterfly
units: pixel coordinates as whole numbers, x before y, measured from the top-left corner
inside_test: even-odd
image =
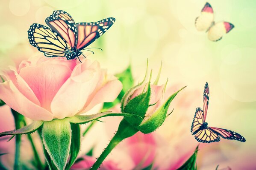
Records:
[[[50,63],[38,64],[35,67],[24,67],[20,70],[20,76],[35,93],[41,107],[48,111],[51,111],[50,104],[53,97],[70,75],[70,68],[65,65]]]

